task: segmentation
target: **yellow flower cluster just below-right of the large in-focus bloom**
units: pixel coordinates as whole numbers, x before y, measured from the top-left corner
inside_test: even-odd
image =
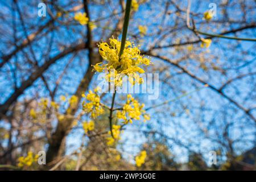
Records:
[[[125,124],[128,122],[133,123],[133,119],[139,120],[141,119],[141,115],[145,113],[143,110],[144,104],[139,104],[137,100],[131,96],[131,94],[127,95],[126,104],[123,105],[122,111],[117,111],[117,118],[123,119]],[[144,114],[144,121],[150,120],[150,116],[148,114]]]

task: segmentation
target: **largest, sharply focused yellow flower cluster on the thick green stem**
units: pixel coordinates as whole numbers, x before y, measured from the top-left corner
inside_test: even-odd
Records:
[[[110,45],[106,42],[102,42],[98,45],[101,57],[108,61],[108,63],[98,63],[93,66],[94,70],[97,72],[108,71],[109,75],[106,76],[108,81],[111,81],[111,71],[114,70],[114,81],[117,86],[122,84],[122,77],[125,75],[129,76],[131,84],[134,85],[135,82],[141,84],[143,78],[140,78],[138,73],[144,73],[144,70],[139,66],[151,64],[150,60],[142,56],[139,48],[135,47],[134,44],[128,40],[125,43],[123,54],[119,59],[121,42],[114,38],[110,38],[109,40]]]

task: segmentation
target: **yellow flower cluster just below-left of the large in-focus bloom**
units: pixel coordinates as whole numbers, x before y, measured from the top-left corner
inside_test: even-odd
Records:
[[[92,90],[89,90],[87,96],[82,94],[82,97],[89,101],[87,103],[85,103],[85,101],[82,102],[82,109],[85,111],[85,113],[90,113],[90,117],[93,119],[104,113],[104,109],[100,105],[100,96],[97,94],[98,90],[99,88],[97,87],[94,89],[95,93],[93,93]]]

